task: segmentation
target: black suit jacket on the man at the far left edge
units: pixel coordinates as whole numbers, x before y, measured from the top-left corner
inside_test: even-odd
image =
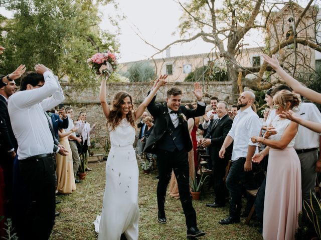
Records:
[[[2,95],[0,95],[0,144],[1,152],[8,152],[12,148],[17,151],[18,148],[17,139],[10,122],[8,103]]]

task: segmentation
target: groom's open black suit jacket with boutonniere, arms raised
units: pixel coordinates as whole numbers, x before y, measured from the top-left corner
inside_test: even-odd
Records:
[[[166,132],[171,117],[168,111],[167,103],[155,103],[154,96],[150,103],[147,106],[148,111],[154,117],[154,128],[151,131],[143,151],[156,153],[157,152],[157,141],[162,138]],[[202,106],[197,104],[196,109],[187,109],[185,106],[181,105],[179,107],[179,114],[183,113],[187,118],[202,116],[205,113],[205,105]],[[179,117],[179,124],[183,124],[183,139],[184,139],[184,148],[186,151],[190,151],[193,148],[193,143],[190,137],[187,121]]]

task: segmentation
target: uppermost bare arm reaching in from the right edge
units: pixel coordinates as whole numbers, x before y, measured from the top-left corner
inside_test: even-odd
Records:
[[[280,75],[280,77],[282,77],[286,84],[288,84],[295,92],[301,94],[302,96],[305,96],[307,99],[310,99],[311,101],[321,103],[321,93],[318,93],[310,88],[303,86],[298,80],[294,79],[291,75],[284,71],[274,54],[272,55],[272,57],[263,54],[263,58],[267,63],[269,63],[273,67],[273,69]]]

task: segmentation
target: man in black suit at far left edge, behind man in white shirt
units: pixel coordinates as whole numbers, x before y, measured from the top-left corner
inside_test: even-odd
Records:
[[[0,76],[3,78],[4,76]],[[2,81],[2,80],[1,80]],[[16,157],[18,143],[12,130],[8,113],[8,98],[17,90],[16,82],[10,80],[0,88],[0,166],[4,170],[6,217],[11,217],[11,196],[13,188],[13,163]]]

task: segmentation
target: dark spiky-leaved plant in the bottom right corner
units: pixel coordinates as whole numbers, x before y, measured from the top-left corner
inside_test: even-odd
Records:
[[[321,201],[313,192],[310,192],[310,202],[304,200],[304,210],[308,221],[311,222],[316,237],[312,239],[321,239]]]

